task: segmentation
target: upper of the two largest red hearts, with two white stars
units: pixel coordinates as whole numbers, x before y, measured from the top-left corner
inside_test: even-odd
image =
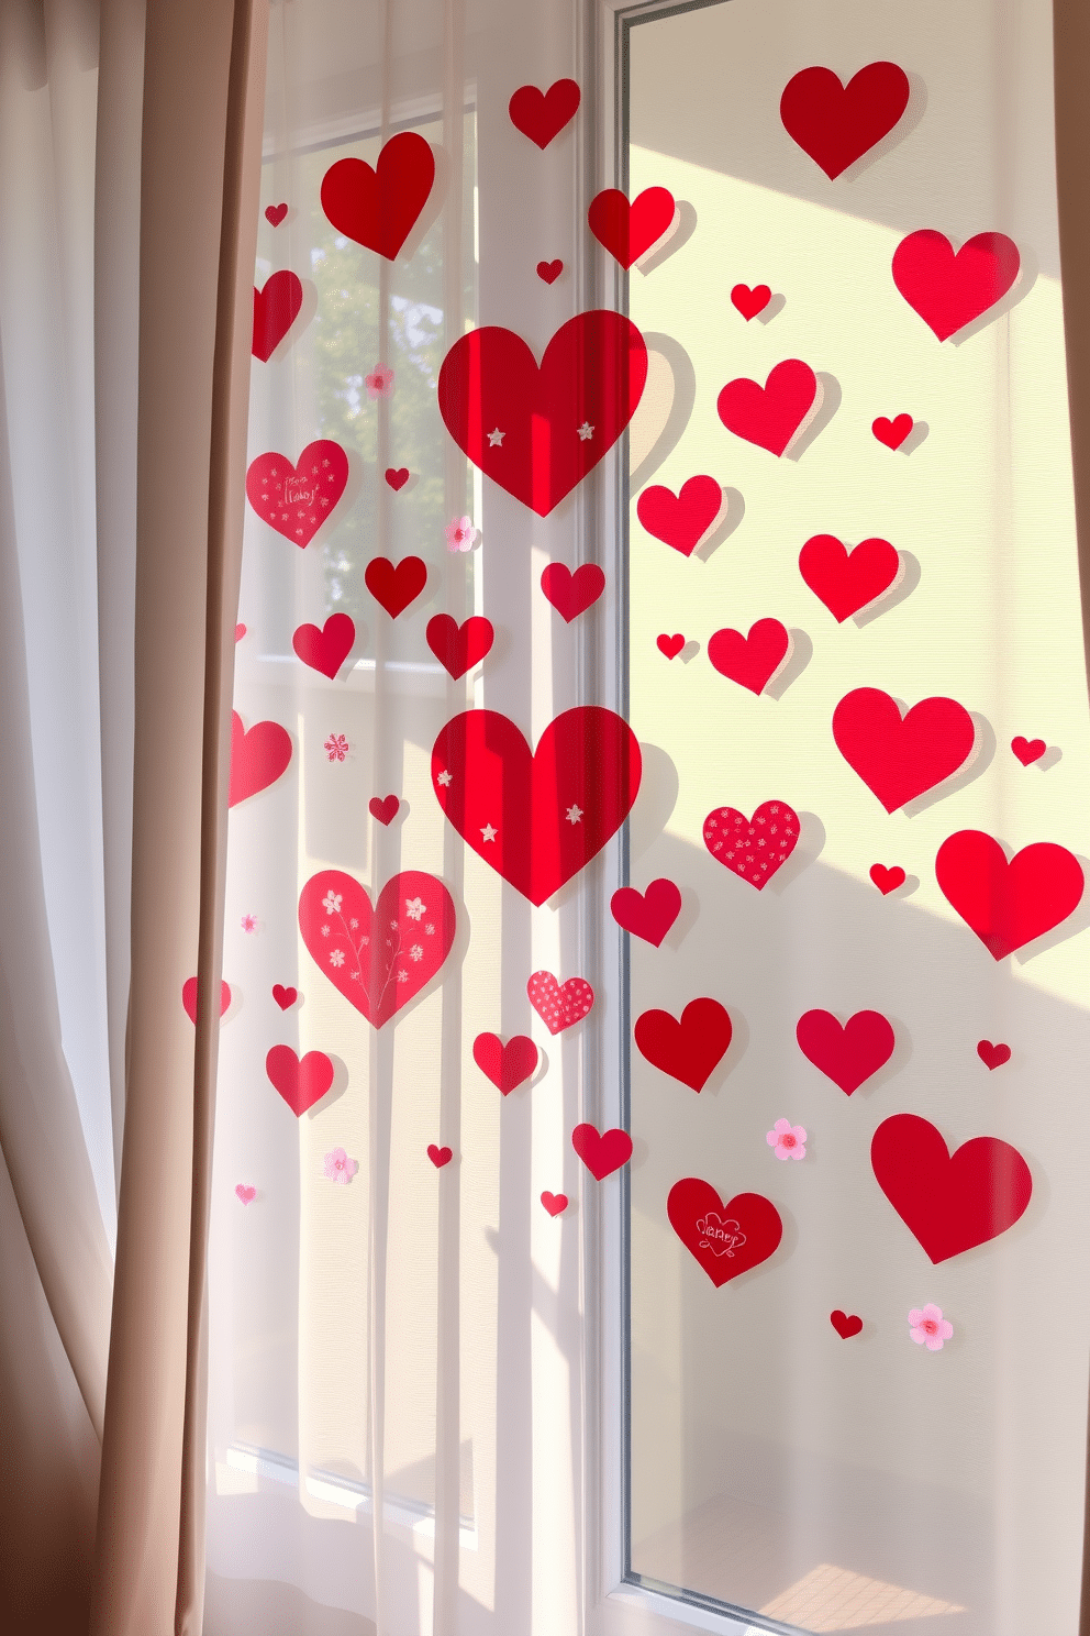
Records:
[[[541,365],[497,324],[461,335],[440,370],[440,414],[487,478],[547,517],[613,448],[647,380],[647,347],[621,312],[562,324]]]

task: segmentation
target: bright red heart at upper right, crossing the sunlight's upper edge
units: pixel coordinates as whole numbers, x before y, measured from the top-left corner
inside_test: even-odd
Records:
[[[894,283],[940,340],[1002,301],[1018,278],[1018,245],[1005,232],[977,232],[958,254],[933,227],[910,232],[894,250]]]

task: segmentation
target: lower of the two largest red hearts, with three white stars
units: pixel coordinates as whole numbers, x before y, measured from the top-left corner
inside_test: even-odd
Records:
[[[462,841],[544,903],[616,834],[636,800],[639,743],[601,705],[565,710],[536,753],[498,710],[466,710],[431,749],[436,800]]]

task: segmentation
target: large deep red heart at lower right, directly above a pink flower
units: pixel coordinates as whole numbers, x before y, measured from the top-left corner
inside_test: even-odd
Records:
[[[951,1153],[918,1114],[882,1119],[871,1140],[878,1184],[931,1261],[998,1238],[1025,1214],[1030,1166],[1010,1142],[977,1135]]]

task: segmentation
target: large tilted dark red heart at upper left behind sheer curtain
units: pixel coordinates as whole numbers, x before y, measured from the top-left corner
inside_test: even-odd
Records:
[[[428,203],[435,154],[417,131],[384,144],[371,169],[363,159],[338,159],[322,177],[322,209],[337,232],[392,262]]]

